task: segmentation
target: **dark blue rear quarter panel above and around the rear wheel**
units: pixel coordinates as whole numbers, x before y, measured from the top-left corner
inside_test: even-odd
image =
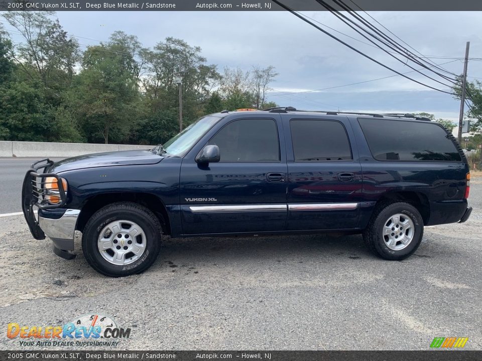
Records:
[[[389,120],[381,120],[389,121]],[[363,174],[360,227],[365,228],[376,203],[394,192],[416,192],[430,206],[426,225],[458,222],[467,207],[464,200],[468,164],[462,161],[376,160],[356,117],[350,117]],[[383,134],[381,134],[383,136]]]

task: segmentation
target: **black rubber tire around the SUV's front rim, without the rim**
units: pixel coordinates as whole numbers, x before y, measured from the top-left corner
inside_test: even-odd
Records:
[[[145,235],[144,240],[141,240],[146,243],[143,246],[144,252],[133,263],[126,265],[108,262],[97,247],[100,232],[106,225],[117,220],[136,223]],[[82,251],[89,265],[97,272],[108,277],[124,277],[144,272],[156,261],[161,247],[161,238],[161,223],[149,209],[132,202],[112,203],[90,217],[82,233]]]

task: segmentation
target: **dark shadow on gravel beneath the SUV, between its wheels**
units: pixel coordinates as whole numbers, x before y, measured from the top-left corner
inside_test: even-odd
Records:
[[[165,264],[315,261],[316,259],[375,258],[361,235],[293,235],[266,237],[199,237],[168,239],[154,268]],[[172,267],[175,268],[175,267]]]

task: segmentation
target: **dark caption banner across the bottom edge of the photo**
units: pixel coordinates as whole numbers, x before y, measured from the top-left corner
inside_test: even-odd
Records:
[[[262,360],[262,361],[458,361],[480,360],[482,351],[0,351],[0,360]]]

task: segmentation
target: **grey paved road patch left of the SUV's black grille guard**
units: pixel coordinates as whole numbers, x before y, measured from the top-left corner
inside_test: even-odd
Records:
[[[22,212],[21,194],[25,172],[39,159],[41,158],[0,158],[0,214]]]

